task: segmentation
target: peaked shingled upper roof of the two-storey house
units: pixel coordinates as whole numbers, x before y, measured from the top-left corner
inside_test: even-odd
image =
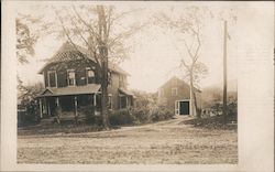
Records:
[[[76,44],[72,44],[69,42],[65,42],[61,49],[48,60],[48,62],[38,71],[38,74],[42,74],[44,68],[48,66],[50,64],[59,63],[59,62],[69,62],[75,60],[82,60],[87,58],[90,61],[96,62],[95,57],[89,55],[89,52],[87,49],[81,47]],[[122,69],[119,65],[112,63],[109,61],[108,63],[109,69],[119,74],[128,75],[130,74]]]

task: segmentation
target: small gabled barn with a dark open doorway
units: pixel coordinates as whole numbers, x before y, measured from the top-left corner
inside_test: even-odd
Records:
[[[200,90],[196,88],[198,107],[201,105]],[[183,79],[174,76],[163,84],[157,90],[158,104],[174,110],[175,115],[190,114],[190,86]]]

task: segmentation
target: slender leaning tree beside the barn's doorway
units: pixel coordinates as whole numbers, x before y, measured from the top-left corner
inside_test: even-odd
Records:
[[[165,24],[173,31],[177,31],[180,35],[179,42],[184,43],[188,58],[182,54],[180,66],[184,67],[185,74],[187,74],[190,83],[191,115],[198,118],[201,116],[197,105],[195,80],[199,80],[200,74],[207,73],[207,67],[198,61],[201,49],[201,28],[207,14],[211,14],[207,8],[188,7],[184,10],[173,8],[170,9],[170,15],[161,13],[160,17],[156,17],[158,22]],[[176,35],[178,36],[178,34]],[[180,52],[179,49],[177,50]]]

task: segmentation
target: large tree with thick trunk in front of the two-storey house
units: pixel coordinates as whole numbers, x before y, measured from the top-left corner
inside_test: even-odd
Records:
[[[127,18],[134,10],[116,13],[112,6],[72,6],[54,9],[62,29],[59,35],[66,37],[76,50],[78,50],[77,44],[85,45],[88,56],[96,62],[96,71],[101,82],[102,126],[108,129],[107,88],[110,76],[108,63],[127,58],[125,40],[144,24],[134,22],[125,26],[128,22],[121,19]]]

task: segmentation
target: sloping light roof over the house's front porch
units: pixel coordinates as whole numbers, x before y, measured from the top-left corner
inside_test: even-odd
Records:
[[[89,84],[85,86],[72,86],[72,87],[61,87],[61,88],[46,88],[37,97],[84,95],[84,94],[98,93],[99,89],[100,89],[99,84]]]

